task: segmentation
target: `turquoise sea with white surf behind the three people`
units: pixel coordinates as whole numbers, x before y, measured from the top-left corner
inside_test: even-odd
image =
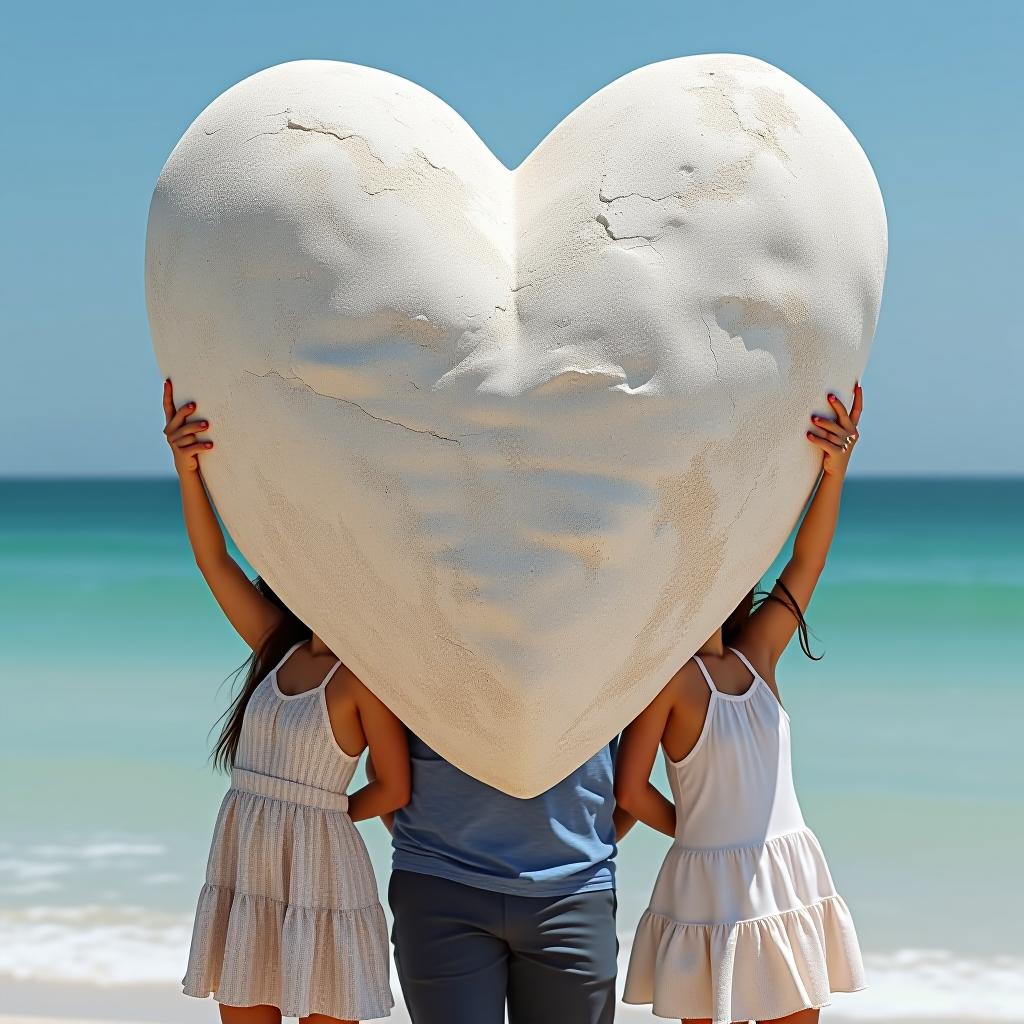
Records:
[[[844,1020],[1024,1021],[1022,513],[1024,480],[851,480],[808,616],[825,656],[783,659],[804,812],[872,983]],[[183,971],[246,651],[171,479],[0,481],[0,1013],[72,986],[114,1017]],[[383,886],[387,835],[360,827]],[[665,848],[622,845],[624,949]],[[184,1001],[147,1019],[213,1019]]]

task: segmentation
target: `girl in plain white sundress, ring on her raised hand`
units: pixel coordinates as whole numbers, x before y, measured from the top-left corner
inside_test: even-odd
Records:
[[[864,987],[850,911],[804,823],[775,666],[806,608],[839,516],[863,403],[812,417],[822,474],[775,588],[752,591],[623,735],[622,807],[674,843],[637,928],[627,1002],[684,1021],[813,1024],[831,992]],[[675,803],[651,784],[665,752]]]

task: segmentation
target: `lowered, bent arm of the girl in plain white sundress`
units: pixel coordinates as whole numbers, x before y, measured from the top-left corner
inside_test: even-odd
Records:
[[[676,808],[651,782],[650,773],[672,711],[673,695],[670,683],[626,727],[615,755],[615,803],[630,817],[666,836],[676,835]],[[617,821],[616,826],[622,827]]]

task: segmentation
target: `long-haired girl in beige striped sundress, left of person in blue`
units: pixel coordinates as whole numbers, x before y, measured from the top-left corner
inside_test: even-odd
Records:
[[[261,580],[231,559],[199,461],[209,423],[164,384],[188,540],[213,596],[252,648],[215,761],[230,769],[199,897],[186,995],[226,1024],[385,1017],[393,1006],[384,911],[353,821],[410,794],[401,723]],[[369,746],[376,779],[346,796]]]

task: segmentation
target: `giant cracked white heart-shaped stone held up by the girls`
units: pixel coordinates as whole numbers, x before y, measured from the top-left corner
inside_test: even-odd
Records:
[[[146,286],[247,558],[431,746],[528,797],[770,564],[885,260],[856,140],[759,60],[633,72],[515,171],[418,86],[303,60],[178,143]]]

